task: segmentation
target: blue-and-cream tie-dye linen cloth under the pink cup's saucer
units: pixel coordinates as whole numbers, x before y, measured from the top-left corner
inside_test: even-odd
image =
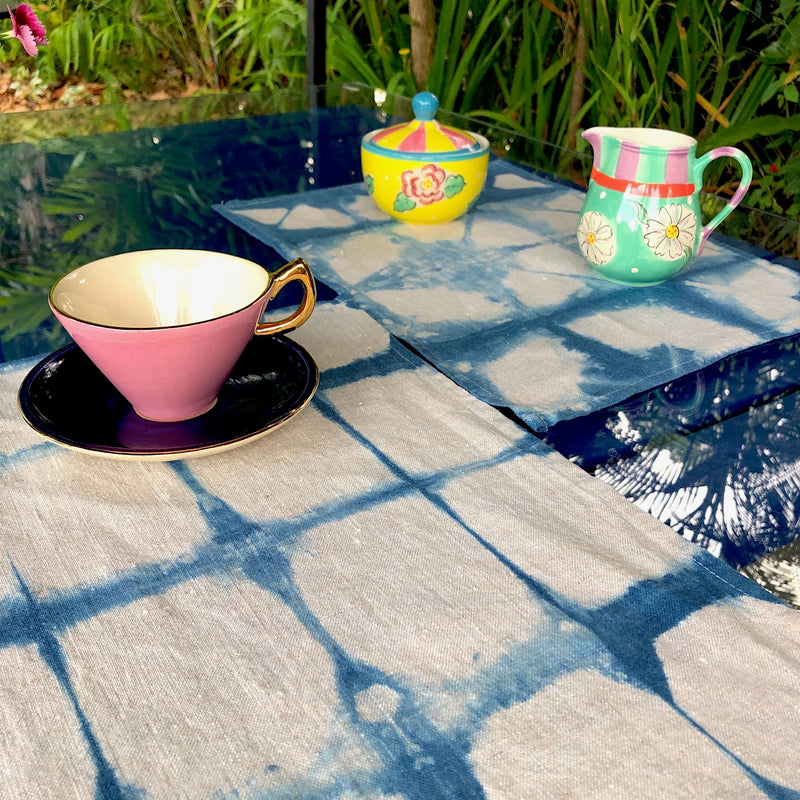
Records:
[[[187,461],[42,441],[0,368],[0,797],[800,797],[800,617],[409,354]]]

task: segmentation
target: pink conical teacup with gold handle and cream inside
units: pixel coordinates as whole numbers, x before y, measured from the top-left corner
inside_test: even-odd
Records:
[[[260,322],[291,281],[303,286],[299,307]],[[315,302],[302,259],[269,273],[205,250],[109,256],[67,273],[50,291],[50,308],[78,346],[139,416],[159,422],[208,411],[253,334],[299,327]]]

